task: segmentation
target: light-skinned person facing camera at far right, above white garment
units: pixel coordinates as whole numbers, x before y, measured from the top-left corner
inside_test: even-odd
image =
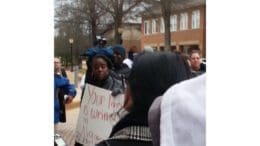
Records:
[[[190,54],[191,74],[193,77],[201,75],[205,72],[205,69],[202,70],[201,65],[203,64],[201,63],[199,51],[193,50]]]

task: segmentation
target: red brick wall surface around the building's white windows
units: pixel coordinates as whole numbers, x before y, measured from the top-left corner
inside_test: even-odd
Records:
[[[201,54],[203,57],[206,56],[206,13],[205,13],[205,5],[196,6],[184,10],[179,10],[174,12],[173,14],[177,14],[177,31],[172,32],[171,40],[172,42],[177,44],[177,49],[181,42],[191,42],[195,41],[198,42],[199,48],[201,50]],[[191,29],[191,15],[192,11],[200,10],[200,28],[199,29]],[[180,13],[188,13],[188,29],[187,30],[180,30]],[[157,17],[158,18],[158,17]],[[152,31],[152,18],[145,18],[142,21],[142,39],[141,39],[141,48],[144,48],[145,45],[150,45],[152,47],[159,48],[160,45],[164,46],[164,33],[155,33],[144,35],[144,21],[150,20],[150,32]]]

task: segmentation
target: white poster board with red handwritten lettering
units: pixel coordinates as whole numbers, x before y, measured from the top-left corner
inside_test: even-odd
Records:
[[[93,146],[107,139],[119,120],[115,113],[123,103],[123,94],[113,97],[111,91],[87,84],[78,117],[76,141],[84,146]]]

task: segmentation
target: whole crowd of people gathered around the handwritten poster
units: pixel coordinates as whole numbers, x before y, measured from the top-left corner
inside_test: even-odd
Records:
[[[113,96],[124,94],[125,112],[110,136],[96,145],[204,146],[206,66],[199,51],[186,58],[174,52],[145,50],[129,51],[126,57],[122,45],[105,45],[106,40],[100,37],[95,47],[82,54],[88,58],[88,69],[81,82],[81,99],[85,85],[92,84],[112,91]],[[60,60],[55,58],[55,124],[64,121],[62,105],[76,95],[75,87],[61,72]],[[68,96],[59,98],[58,94]],[[75,146],[81,145],[75,142]]]

